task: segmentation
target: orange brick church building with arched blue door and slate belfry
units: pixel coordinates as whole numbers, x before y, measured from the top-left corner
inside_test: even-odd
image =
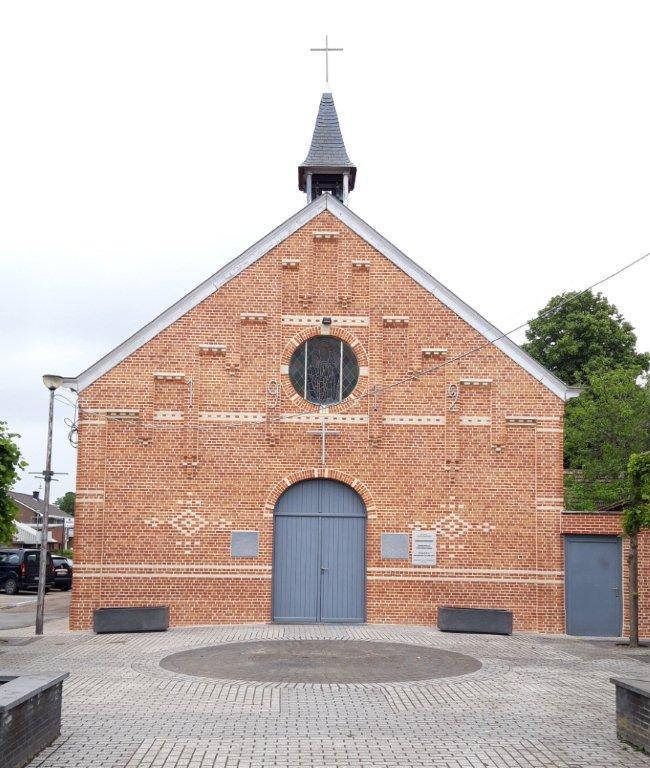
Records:
[[[176,626],[454,605],[565,631],[563,534],[619,533],[563,514],[577,392],[356,216],[355,176],[325,93],[307,206],[68,382],[73,628],[121,605]]]

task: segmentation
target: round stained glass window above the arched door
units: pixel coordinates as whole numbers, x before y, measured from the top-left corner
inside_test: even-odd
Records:
[[[296,392],[316,405],[340,403],[359,379],[352,347],[334,336],[314,336],[293,353],[289,378]]]

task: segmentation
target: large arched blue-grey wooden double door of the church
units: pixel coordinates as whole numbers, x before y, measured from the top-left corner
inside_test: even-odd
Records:
[[[334,480],[305,480],[275,508],[273,620],[362,622],[366,616],[366,509]]]

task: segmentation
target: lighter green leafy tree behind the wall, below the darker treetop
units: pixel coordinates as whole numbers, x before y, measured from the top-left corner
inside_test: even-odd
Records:
[[[633,453],[650,450],[650,384],[636,370],[592,373],[569,403],[564,450],[570,509],[596,509],[627,498],[626,468]]]

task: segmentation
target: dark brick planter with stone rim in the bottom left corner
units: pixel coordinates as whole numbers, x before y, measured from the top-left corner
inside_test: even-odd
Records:
[[[21,768],[61,733],[62,674],[0,672],[2,768]]]

